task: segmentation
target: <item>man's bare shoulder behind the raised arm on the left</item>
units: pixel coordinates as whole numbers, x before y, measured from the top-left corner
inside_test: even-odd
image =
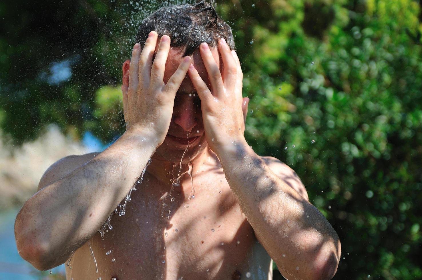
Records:
[[[51,166],[44,172],[41,177],[40,183],[38,184],[38,191],[45,186],[63,178],[73,170],[81,167],[82,165],[89,162],[99,154],[98,152],[86,153],[82,155],[71,155],[65,156],[59,159],[57,162],[51,164]]]

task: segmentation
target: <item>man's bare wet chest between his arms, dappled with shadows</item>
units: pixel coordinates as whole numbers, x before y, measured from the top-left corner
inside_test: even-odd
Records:
[[[190,200],[182,188],[168,196],[142,185],[126,214],[113,215],[113,229],[92,239],[99,271],[117,279],[236,279],[246,273],[256,238],[223,180],[197,182]],[[85,255],[92,257],[90,249]]]

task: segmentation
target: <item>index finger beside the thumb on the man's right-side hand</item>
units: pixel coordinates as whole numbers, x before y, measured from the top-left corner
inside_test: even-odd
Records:
[[[212,93],[214,96],[218,97],[220,93],[224,92],[223,80],[218,65],[216,64],[207,43],[202,43],[200,45],[200,53],[211,81]]]

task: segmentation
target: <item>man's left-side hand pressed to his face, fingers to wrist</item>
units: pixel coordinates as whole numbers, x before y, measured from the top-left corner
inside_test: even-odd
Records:
[[[170,37],[161,37],[154,62],[157,32],[151,31],[141,50],[136,43],[129,68],[129,83],[123,83],[123,114],[126,130],[141,129],[161,145],[170,127],[176,92],[186,76],[192,59],[184,57],[167,84],[163,81],[165,63],[170,50]],[[125,66],[123,66],[125,67]]]

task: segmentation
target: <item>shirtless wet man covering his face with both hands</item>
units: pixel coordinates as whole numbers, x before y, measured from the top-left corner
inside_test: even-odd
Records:
[[[17,248],[35,268],[70,259],[74,280],[267,280],[274,260],[287,279],[335,274],[341,246],[330,223],[293,170],[243,137],[249,100],[233,35],[201,3],[143,22],[123,64],[126,132],[101,153],[51,165],[22,207]]]

